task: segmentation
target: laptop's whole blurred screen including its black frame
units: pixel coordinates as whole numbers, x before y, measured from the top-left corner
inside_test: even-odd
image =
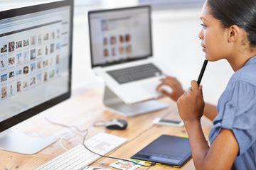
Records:
[[[150,6],[90,11],[92,67],[151,57],[150,14]]]

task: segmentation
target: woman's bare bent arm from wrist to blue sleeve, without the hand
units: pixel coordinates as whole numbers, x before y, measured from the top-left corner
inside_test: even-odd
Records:
[[[231,130],[221,130],[211,147],[209,147],[203,135],[200,121],[186,122],[185,127],[188,132],[192,158],[196,169],[232,168],[235,157],[238,155],[239,147]]]

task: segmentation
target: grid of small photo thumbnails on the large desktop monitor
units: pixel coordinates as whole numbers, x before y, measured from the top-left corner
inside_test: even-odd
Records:
[[[60,28],[37,32],[20,40],[0,42],[1,100],[58,77]]]

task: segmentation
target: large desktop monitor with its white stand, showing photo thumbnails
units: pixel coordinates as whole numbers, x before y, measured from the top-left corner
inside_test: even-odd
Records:
[[[0,148],[34,154],[55,142],[10,128],[70,98],[73,0],[0,11]]]

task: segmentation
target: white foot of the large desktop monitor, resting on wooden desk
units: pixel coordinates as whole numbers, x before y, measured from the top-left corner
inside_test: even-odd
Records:
[[[0,133],[0,149],[19,154],[36,154],[56,140],[55,137],[31,137],[8,129]]]

